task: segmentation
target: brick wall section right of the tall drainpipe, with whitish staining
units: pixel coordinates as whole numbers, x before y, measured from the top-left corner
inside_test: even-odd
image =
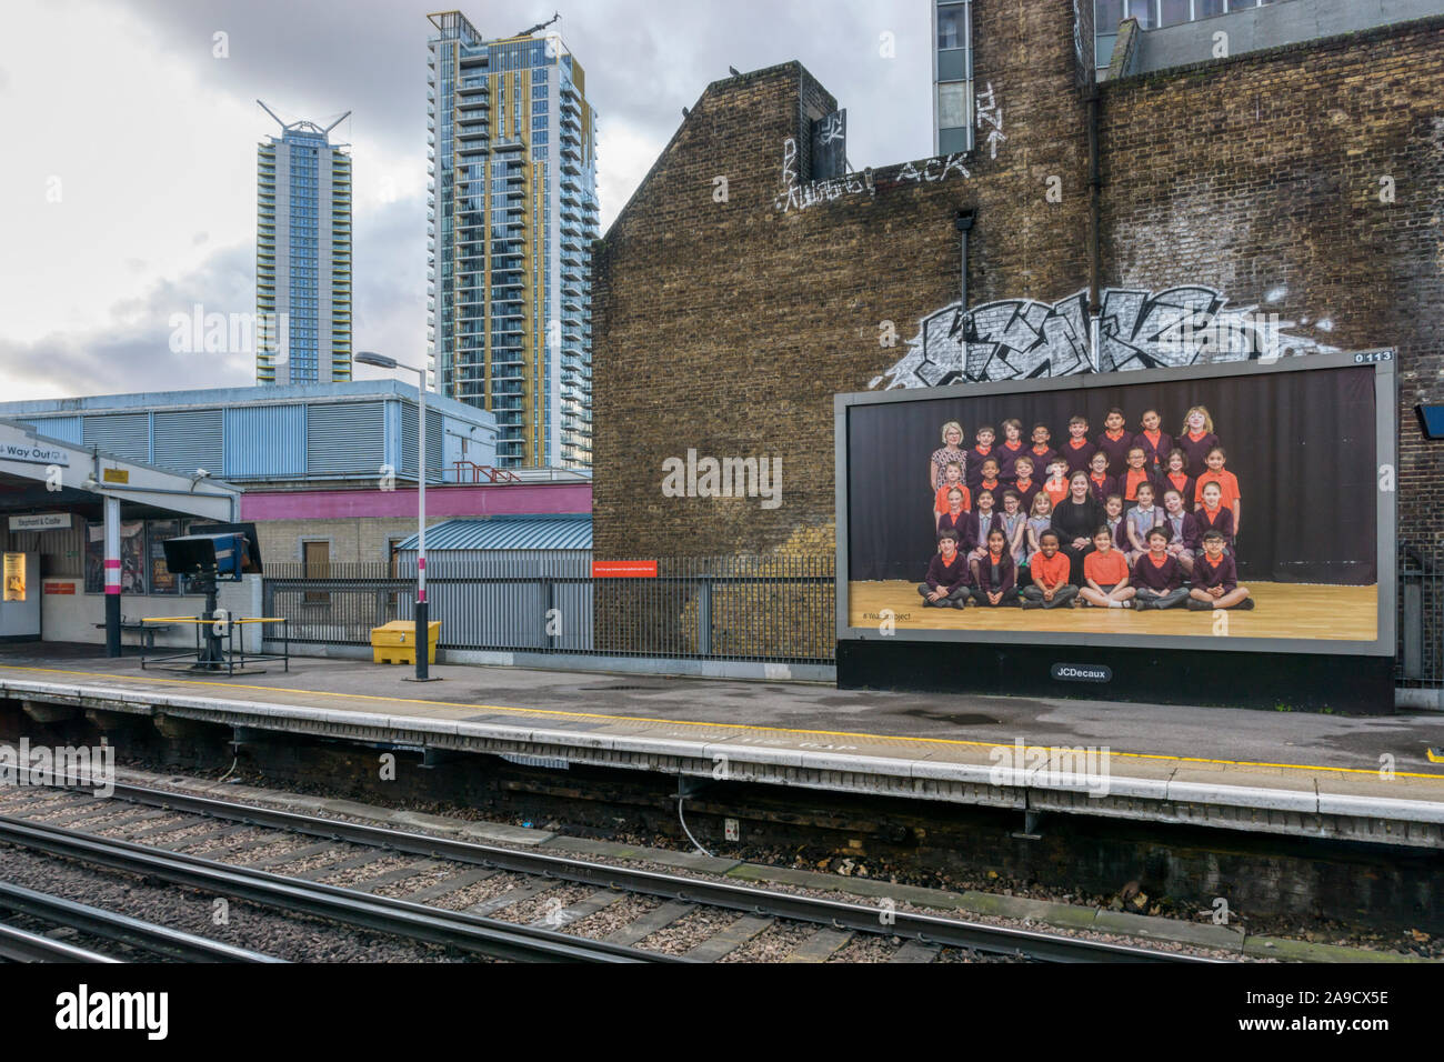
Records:
[[[1333,347],[1396,347],[1401,535],[1444,536],[1412,412],[1444,397],[1444,19],[1102,90],[1105,283],[1207,283]]]

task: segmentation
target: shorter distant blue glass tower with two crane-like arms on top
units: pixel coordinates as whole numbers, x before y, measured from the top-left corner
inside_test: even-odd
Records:
[[[260,101],[257,101],[260,103]],[[284,123],[257,147],[256,381],[351,379],[351,156],[322,129]]]

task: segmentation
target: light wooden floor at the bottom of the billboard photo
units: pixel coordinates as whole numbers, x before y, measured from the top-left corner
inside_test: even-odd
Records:
[[[891,608],[898,630],[1027,630],[1097,634],[1213,634],[1213,613],[1183,605],[1135,613],[1131,608],[924,608],[917,582],[851,582],[848,613],[853,627],[877,627]],[[1291,582],[1243,584],[1258,603],[1251,613],[1229,613],[1230,637],[1336,639],[1373,642],[1379,624],[1378,587],[1321,587]]]

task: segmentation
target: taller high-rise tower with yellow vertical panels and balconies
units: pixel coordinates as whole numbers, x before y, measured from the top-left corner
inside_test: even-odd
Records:
[[[592,464],[596,111],[540,29],[427,16],[429,328],[436,389],[497,415],[501,467]]]

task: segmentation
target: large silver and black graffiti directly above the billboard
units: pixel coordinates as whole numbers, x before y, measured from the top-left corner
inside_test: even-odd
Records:
[[[1213,288],[1108,288],[1102,299],[1102,373],[1337,350],[1291,334],[1297,322],[1259,314],[1256,305],[1227,306]],[[1004,299],[969,311],[957,303],[944,306],[923,319],[907,354],[868,387],[940,387],[1090,371],[1087,290],[1080,290],[1053,305]]]

